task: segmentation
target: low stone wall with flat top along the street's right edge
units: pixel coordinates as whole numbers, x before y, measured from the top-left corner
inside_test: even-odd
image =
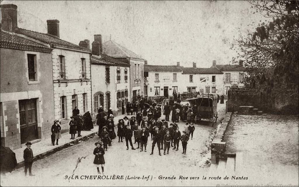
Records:
[[[217,132],[211,144],[211,162],[216,163],[216,158],[224,154],[226,143],[222,141],[225,130],[231,120],[232,112],[227,112],[221,124],[217,127]]]

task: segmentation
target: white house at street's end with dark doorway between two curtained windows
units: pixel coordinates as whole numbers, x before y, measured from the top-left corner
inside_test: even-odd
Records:
[[[144,65],[144,95],[148,97],[172,96],[183,92],[182,70],[177,66]]]

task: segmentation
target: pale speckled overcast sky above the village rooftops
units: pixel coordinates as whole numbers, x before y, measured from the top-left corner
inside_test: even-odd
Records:
[[[210,67],[229,64],[234,37],[253,30],[262,16],[247,1],[11,1],[18,27],[47,33],[47,19],[60,21],[60,38],[74,44],[101,34],[152,65]],[[251,24],[255,22],[254,27]]]

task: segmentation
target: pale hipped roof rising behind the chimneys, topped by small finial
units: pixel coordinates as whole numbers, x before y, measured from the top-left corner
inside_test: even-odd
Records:
[[[121,46],[120,44],[112,40],[103,43],[103,53],[113,58],[131,57],[131,58],[138,58],[144,60],[136,53],[128,50],[127,48]]]

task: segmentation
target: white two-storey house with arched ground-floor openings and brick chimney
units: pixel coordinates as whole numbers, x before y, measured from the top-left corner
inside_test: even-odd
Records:
[[[89,41],[80,41],[85,47]],[[93,114],[97,115],[99,106],[105,111],[112,109],[114,115],[121,115],[121,106],[126,106],[130,95],[130,65],[111,58],[102,51],[102,36],[94,35],[91,57],[91,86]]]

